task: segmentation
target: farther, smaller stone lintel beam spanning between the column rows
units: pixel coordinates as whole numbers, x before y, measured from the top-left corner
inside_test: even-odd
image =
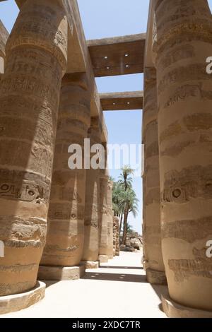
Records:
[[[100,93],[103,111],[143,109],[143,91]]]

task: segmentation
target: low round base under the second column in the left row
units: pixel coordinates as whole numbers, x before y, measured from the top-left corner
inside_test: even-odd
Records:
[[[85,264],[78,266],[40,266],[38,278],[41,280],[77,280],[86,273]]]

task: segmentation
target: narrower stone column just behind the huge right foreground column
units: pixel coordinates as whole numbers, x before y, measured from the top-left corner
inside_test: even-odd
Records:
[[[143,101],[143,259],[149,283],[165,284],[160,232],[157,80],[154,68],[144,71]]]

